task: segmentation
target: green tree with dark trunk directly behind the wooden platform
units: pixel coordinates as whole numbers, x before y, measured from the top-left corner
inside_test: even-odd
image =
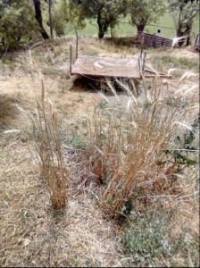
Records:
[[[81,18],[96,19],[98,38],[104,38],[109,27],[113,28],[126,14],[127,0],[82,0],[72,1],[79,4]]]

